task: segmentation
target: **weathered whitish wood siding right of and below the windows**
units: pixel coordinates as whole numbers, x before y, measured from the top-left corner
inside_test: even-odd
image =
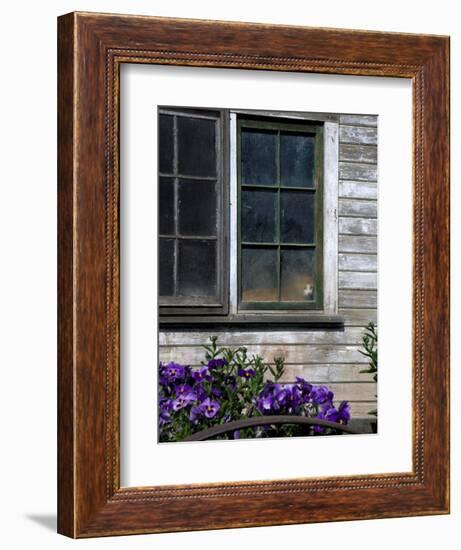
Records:
[[[325,383],[355,417],[376,407],[376,384],[360,373],[363,328],[377,322],[377,118],[341,115],[339,126],[338,304],[344,331],[215,331],[221,345],[246,346],[271,361],[283,356],[286,380]],[[162,332],[161,361],[198,365],[209,331]]]

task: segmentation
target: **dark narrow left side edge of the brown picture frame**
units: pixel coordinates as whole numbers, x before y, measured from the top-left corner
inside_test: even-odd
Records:
[[[74,36],[70,17],[58,32],[58,530],[75,536],[74,506]]]

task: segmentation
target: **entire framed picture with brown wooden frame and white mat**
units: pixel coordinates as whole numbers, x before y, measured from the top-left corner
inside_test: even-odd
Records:
[[[72,13],[58,69],[59,532],[448,513],[449,39]]]

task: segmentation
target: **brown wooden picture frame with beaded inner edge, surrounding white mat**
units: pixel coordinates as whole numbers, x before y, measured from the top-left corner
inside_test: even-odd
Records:
[[[448,513],[449,39],[91,13],[60,17],[58,31],[58,531],[95,537]],[[412,471],[120,487],[122,63],[412,79]]]

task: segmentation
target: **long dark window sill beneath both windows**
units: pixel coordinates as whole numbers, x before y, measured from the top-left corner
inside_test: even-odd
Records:
[[[309,314],[305,315],[197,315],[197,316],[161,316],[159,320],[161,330],[184,330],[206,328],[244,328],[247,330],[265,329],[290,329],[290,328],[325,328],[331,330],[344,330],[344,318],[340,315]]]

